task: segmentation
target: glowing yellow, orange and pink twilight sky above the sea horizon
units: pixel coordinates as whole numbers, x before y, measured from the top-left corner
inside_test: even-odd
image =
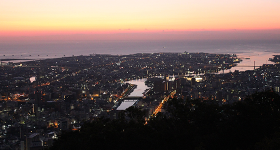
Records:
[[[280,39],[280,0],[0,0],[0,40]]]

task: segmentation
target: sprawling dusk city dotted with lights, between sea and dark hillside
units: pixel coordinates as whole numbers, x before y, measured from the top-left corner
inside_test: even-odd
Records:
[[[49,148],[61,132],[123,118],[131,105],[144,112],[146,124],[174,97],[226,105],[255,92],[279,92],[278,64],[217,73],[240,61],[236,54],[161,52],[1,62],[1,148]],[[137,85],[127,81],[141,78],[147,89],[129,96]]]

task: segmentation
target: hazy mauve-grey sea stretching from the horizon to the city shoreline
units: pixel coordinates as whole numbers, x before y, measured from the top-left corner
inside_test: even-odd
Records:
[[[279,40],[76,40],[76,41],[3,41],[0,59],[44,59],[89,54],[133,54],[154,52],[236,53],[242,65],[272,63],[280,54]]]

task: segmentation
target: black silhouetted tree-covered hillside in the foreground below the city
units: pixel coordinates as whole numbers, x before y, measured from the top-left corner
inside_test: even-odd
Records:
[[[144,113],[129,107],[119,120],[63,133],[52,149],[280,149],[280,96],[273,91],[231,105],[173,98],[164,108],[144,125]]]

